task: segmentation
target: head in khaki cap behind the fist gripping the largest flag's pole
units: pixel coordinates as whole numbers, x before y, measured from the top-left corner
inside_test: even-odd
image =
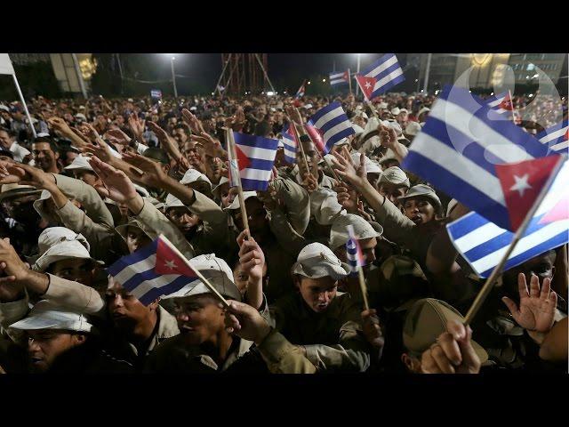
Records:
[[[446,331],[449,322],[464,323],[461,313],[447,302],[434,298],[424,298],[413,303],[405,316],[403,326],[403,347],[401,361],[407,369],[421,374],[421,355],[437,342],[440,334]],[[477,353],[480,363],[488,359],[486,351],[475,341],[472,347]]]

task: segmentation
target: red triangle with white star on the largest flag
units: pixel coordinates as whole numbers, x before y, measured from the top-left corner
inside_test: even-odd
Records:
[[[549,156],[524,162],[495,165],[509,213],[510,230],[524,222],[560,156]]]

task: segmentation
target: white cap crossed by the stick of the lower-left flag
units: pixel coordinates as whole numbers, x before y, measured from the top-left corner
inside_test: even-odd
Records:
[[[189,263],[192,268],[199,271],[221,295],[236,301],[241,301],[241,293],[233,282],[233,271],[229,268],[227,262],[221,258],[217,258],[215,254],[204,254],[192,258],[189,260]],[[198,279],[182,287],[180,291],[163,296],[162,298],[180,298],[198,294],[209,294],[211,292],[209,287],[205,286],[204,282]]]

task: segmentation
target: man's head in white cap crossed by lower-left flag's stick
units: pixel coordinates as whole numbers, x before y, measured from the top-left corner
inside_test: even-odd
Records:
[[[192,258],[191,264],[224,298],[242,300],[227,262],[216,258],[215,254],[205,254]],[[221,336],[227,336],[220,302],[201,280],[168,295],[166,299],[172,302],[180,334],[188,344],[208,342],[215,345]]]

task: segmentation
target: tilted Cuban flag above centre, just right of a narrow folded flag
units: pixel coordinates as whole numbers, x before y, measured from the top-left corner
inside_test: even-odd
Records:
[[[310,117],[306,128],[310,136],[314,133],[318,134],[314,135],[317,139],[312,138],[312,140],[323,154],[327,154],[336,142],[356,133],[346,112],[341,108],[340,102],[333,102],[319,109],[314,116]]]

